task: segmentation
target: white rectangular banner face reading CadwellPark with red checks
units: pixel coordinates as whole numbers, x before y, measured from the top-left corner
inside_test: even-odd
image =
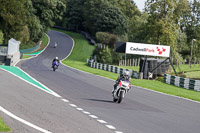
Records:
[[[170,46],[126,42],[126,53],[169,57]]]

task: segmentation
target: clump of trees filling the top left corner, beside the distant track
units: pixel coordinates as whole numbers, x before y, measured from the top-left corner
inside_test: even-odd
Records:
[[[62,0],[0,0],[0,43],[10,38],[23,44],[37,42],[62,20],[65,10]]]

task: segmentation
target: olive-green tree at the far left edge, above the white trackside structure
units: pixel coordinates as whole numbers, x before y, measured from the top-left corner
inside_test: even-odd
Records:
[[[1,0],[0,29],[4,35],[4,42],[10,38],[20,39],[19,34],[27,22],[25,2],[26,0]]]

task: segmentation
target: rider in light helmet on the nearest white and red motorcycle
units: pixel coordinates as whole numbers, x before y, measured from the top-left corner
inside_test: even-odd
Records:
[[[118,86],[120,80],[127,80],[131,84],[130,72],[128,70],[125,70],[122,74],[119,75],[119,77],[115,81],[114,89],[112,90],[112,93],[114,93],[115,90],[117,89],[117,86]]]

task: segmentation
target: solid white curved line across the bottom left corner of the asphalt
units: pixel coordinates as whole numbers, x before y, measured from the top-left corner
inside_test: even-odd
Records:
[[[28,121],[23,120],[22,118],[19,118],[18,116],[12,114],[11,112],[7,111],[6,109],[4,109],[4,108],[1,107],[1,106],[0,106],[0,110],[1,110],[2,112],[4,112],[5,114],[9,115],[10,117],[12,117],[12,118],[14,118],[14,119],[16,119],[16,120],[18,120],[18,121],[20,121],[20,122],[22,122],[22,123],[28,125],[28,126],[30,126],[30,127],[32,127],[32,128],[35,128],[35,129],[37,129],[37,130],[39,130],[39,131],[41,131],[41,132],[43,132],[43,133],[51,133],[51,132],[49,132],[49,131],[47,131],[47,130],[45,130],[45,129],[42,129],[42,128],[40,128],[40,127],[38,127],[38,126],[36,126],[36,125],[34,125],[34,124],[28,122]]]

